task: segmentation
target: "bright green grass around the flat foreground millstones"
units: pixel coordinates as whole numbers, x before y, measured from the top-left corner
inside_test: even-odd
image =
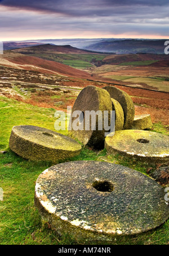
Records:
[[[0,154],[0,187],[3,188],[3,201],[0,201],[0,244],[2,245],[72,245],[78,244],[76,239],[64,233],[57,234],[49,223],[41,220],[38,210],[34,207],[34,188],[38,175],[53,162],[35,162],[25,160],[17,156],[8,148],[8,140],[12,126],[36,125],[54,130],[55,109],[39,108],[5,97],[0,98],[0,139],[1,150],[7,149],[6,154]],[[164,133],[162,124],[154,125],[154,130]],[[64,134],[67,134],[64,131]],[[67,134],[68,135],[68,134]],[[92,151],[90,148],[82,148],[76,160],[110,161],[131,167],[148,175],[147,170],[156,166],[148,165],[135,160],[116,155],[108,156],[106,149]],[[70,161],[70,160],[66,160]],[[61,161],[60,161],[61,162]],[[117,237],[112,244],[161,244],[169,243],[169,220],[161,227],[136,236]],[[85,244],[85,241],[84,241]],[[92,242],[91,242],[92,244]]]

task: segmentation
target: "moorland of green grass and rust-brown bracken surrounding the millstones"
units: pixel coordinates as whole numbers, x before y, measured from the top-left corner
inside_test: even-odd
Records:
[[[68,55],[70,55],[70,59]],[[0,151],[6,151],[6,153],[0,153],[0,187],[3,188],[3,201],[0,201],[0,244],[79,244],[76,237],[69,233],[60,236],[56,229],[41,219],[34,207],[34,188],[38,175],[57,162],[29,161],[12,152],[8,147],[8,141],[13,126],[35,125],[55,131],[54,114],[56,110],[66,112],[68,106],[73,106],[83,87],[111,85],[126,91],[131,96],[135,104],[135,114],[150,114],[153,126],[149,130],[169,135],[169,94],[167,93],[169,75],[168,66],[165,64],[166,60],[162,61],[163,64],[156,66],[157,59],[145,60],[148,56],[144,56],[144,60],[140,61],[153,61],[153,63],[144,62],[142,65],[142,62],[141,65],[138,63],[125,65],[124,63],[130,63],[127,56],[123,56],[122,62],[117,56],[115,61],[118,63],[115,64],[112,62],[99,63],[99,61],[105,61],[99,59],[103,58],[103,55],[95,56],[98,58],[95,61],[94,55],[87,56],[86,54],[87,59],[81,59],[76,64],[75,59],[74,62],[71,59],[78,59],[78,53],[76,55],[71,55],[69,52],[61,58],[65,63],[70,65],[74,63],[83,70],[73,69],[63,64],[60,66],[60,63],[53,60],[46,61],[28,55],[25,57],[17,52],[7,51],[3,58],[1,56]],[[82,53],[80,55],[82,57]],[[105,59],[112,61],[108,56]],[[135,59],[135,61],[138,60]],[[86,67],[87,63],[92,66]],[[79,67],[81,64],[82,67]],[[70,136],[68,131],[62,131],[62,133]],[[105,149],[94,151],[84,147],[79,156],[65,161],[74,160],[113,162],[131,167],[148,176],[161,166],[153,162],[146,164],[145,162],[127,160],[119,155],[108,156]],[[85,245],[86,241],[83,244]],[[91,244],[95,243],[91,242]],[[112,244],[167,245],[169,244],[169,220],[160,227],[140,235],[115,237]]]

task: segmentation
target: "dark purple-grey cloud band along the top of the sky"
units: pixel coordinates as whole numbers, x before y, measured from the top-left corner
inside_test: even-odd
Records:
[[[154,9],[169,6],[168,0],[2,0],[1,4],[24,10],[60,13],[73,16],[112,16],[151,13]],[[150,10],[151,7],[152,10]],[[143,12],[144,10],[144,12]],[[156,13],[157,14],[157,13]],[[155,14],[154,14],[155,15]]]

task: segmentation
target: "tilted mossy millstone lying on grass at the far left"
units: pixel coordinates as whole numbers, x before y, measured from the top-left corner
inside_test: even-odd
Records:
[[[81,145],[68,136],[32,125],[14,126],[9,146],[30,160],[57,161],[79,155]]]

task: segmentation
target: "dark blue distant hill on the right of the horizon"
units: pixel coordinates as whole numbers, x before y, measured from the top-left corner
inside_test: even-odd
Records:
[[[86,50],[115,52],[116,54],[164,54],[165,39],[124,39],[124,40],[107,40],[93,43],[84,47]]]

